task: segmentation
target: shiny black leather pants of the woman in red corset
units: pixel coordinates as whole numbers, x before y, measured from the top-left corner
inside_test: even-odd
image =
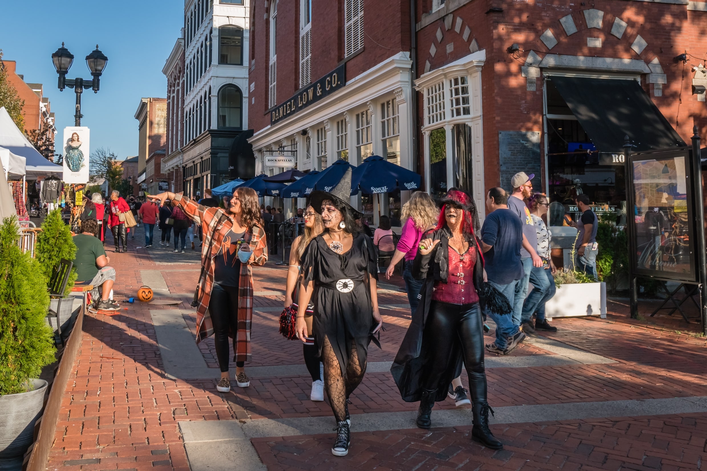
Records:
[[[452,339],[462,343],[464,366],[469,374],[469,392],[474,403],[486,403],[486,369],[484,368],[484,320],[479,303],[449,304],[433,301],[424,336],[433,345],[431,361],[426,368],[424,387],[437,389],[450,362]]]

